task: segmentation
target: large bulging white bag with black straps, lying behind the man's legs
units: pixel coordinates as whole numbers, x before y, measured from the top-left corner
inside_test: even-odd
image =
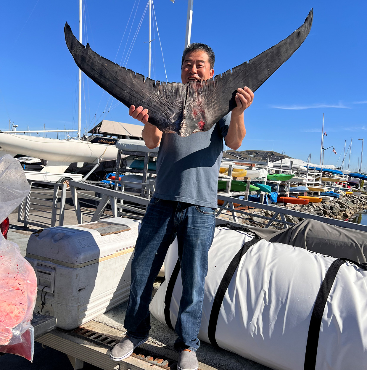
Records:
[[[219,227],[209,250],[199,339],[272,369],[365,369],[367,266]],[[176,242],[150,312],[174,327]]]

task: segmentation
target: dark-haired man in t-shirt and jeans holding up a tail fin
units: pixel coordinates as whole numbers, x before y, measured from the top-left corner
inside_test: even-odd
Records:
[[[183,51],[182,83],[208,80],[214,75],[215,55],[205,44],[193,43]],[[199,347],[204,281],[208,250],[215,229],[218,173],[226,145],[238,149],[246,134],[243,111],[250,106],[253,92],[244,87],[236,93],[237,107],[209,131],[188,137],[162,133],[149,123],[149,112],[132,105],[129,114],[145,124],[142,131],[149,149],[158,147],[154,197],[148,205],[131,263],[130,297],[124,327],[127,336],[111,351],[119,361],[148,339],[149,303],[152,285],[164,262],[169,245],[177,236],[181,263],[182,297],[174,344],[180,352],[179,370],[196,370]]]

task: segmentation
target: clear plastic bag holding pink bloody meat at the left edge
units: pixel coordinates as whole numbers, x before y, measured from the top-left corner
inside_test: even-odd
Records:
[[[0,220],[27,196],[30,186],[20,163],[7,154],[0,158]],[[1,222],[0,221],[0,222]],[[33,359],[30,320],[37,297],[37,278],[15,243],[0,234],[0,352]]]

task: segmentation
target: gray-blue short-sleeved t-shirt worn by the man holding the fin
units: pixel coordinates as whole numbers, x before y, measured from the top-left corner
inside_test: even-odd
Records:
[[[181,137],[162,134],[154,196],[168,201],[217,207],[218,173],[230,112],[209,131]]]

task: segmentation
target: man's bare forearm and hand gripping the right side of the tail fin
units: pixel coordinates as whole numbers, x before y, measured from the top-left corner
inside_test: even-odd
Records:
[[[253,92],[246,86],[243,89],[238,88],[235,99],[237,107],[232,109],[228,132],[224,141],[229,148],[237,150],[246,135],[243,112],[251,105]]]

